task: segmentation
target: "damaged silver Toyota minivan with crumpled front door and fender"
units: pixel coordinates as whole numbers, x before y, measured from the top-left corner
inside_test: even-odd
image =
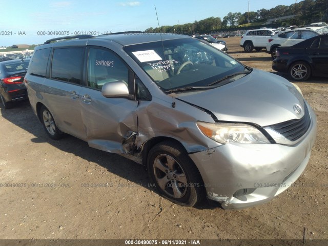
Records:
[[[51,138],[142,163],[183,206],[269,201],[301,175],[316,136],[297,86],[185,35],[51,39],[35,48],[25,84]]]

